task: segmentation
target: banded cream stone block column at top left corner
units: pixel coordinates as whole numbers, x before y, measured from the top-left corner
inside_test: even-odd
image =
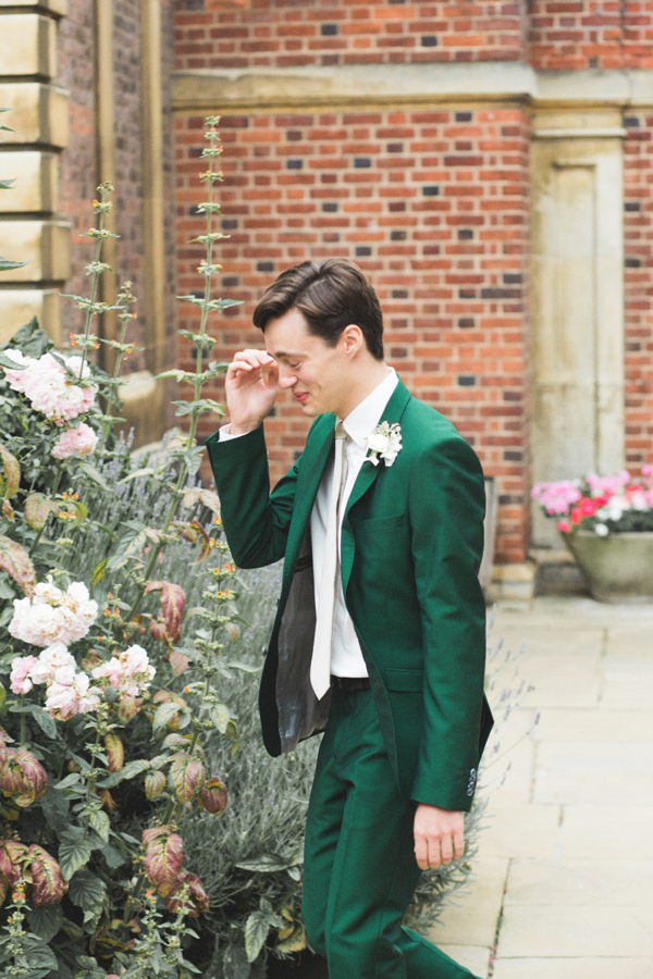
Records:
[[[71,235],[57,216],[58,154],[67,145],[67,94],[56,84],[57,23],[67,0],[0,0],[0,255],[26,264],[0,273],[0,340],[36,315],[59,342],[59,292],[71,267]]]

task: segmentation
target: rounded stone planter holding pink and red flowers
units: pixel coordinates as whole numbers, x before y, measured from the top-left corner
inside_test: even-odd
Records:
[[[599,602],[653,602],[653,532],[563,534]]]

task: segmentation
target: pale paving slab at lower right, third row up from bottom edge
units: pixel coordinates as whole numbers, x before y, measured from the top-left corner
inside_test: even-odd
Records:
[[[568,904],[634,905],[653,919],[653,860],[510,860],[505,907]]]

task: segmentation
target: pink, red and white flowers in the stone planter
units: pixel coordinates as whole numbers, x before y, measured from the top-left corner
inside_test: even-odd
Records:
[[[642,466],[640,479],[624,469],[608,476],[590,472],[581,480],[538,483],[531,495],[547,517],[556,518],[562,534],[653,531],[653,466]]]

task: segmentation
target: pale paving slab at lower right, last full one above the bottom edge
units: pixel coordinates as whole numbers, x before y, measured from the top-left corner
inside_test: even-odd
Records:
[[[653,956],[651,909],[507,905],[498,958]],[[620,979],[619,974],[616,977]],[[615,977],[615,979],[616,979]]]

